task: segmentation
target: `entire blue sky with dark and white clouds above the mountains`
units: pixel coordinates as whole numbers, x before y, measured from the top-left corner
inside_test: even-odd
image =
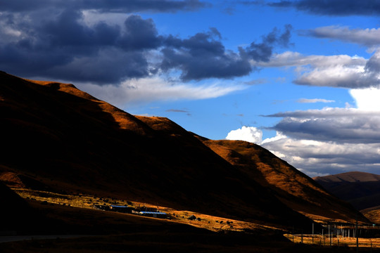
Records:
[[[13,0],[0,70],[272,151],[380,174],[380,0]]]

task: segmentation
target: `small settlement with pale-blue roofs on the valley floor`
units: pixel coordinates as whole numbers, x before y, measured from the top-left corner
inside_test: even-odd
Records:
[[[158,209],[152,207],[129,207],[127,205],[94,205],[95,209],[111,212],[120,212],[124,214],[136,214],[153,218],[166,219],[165,212],[159,212]]]

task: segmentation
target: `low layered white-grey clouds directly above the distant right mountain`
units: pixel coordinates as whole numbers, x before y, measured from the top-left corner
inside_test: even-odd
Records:
[[[309,176],[339,174],[346,171],[380,173],[379,143],[346,143],[333,141],[279,138],[262,144],[286,162]]]

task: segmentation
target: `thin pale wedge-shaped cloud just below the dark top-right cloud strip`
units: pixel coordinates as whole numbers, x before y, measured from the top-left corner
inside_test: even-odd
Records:
[[[298,32],[303,36],[312,36],[324,39],[337,39],[362,46],[374,47],[380,45],[380,29],[350,29],[350,27],[327,26],[317,27],[313,30]]]

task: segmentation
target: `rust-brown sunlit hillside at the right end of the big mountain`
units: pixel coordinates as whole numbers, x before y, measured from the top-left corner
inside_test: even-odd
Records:
[[[265,148],[245,141],[203,138],[203,143],[251,181],[271,188],[274,195],[292,209],[314,219],[355,221],[358,212],[353,207],[327,193],[315,181]],[[366,221],[364,216],[361,219]]]

